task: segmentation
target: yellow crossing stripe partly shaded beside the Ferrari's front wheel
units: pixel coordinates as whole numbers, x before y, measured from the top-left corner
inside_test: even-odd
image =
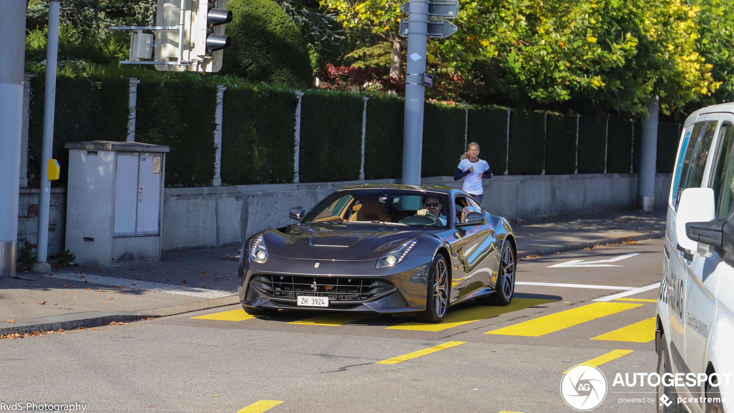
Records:
[[[547,299],[512,299],[507,307],[495,307],[490,305],[479,305],[476,307],[466,308],[464,310],[454,311],[446,314],[440,323],[409,323],[398,324],[397,326],[385,327],[394,330],[420,330],[424,332],[440,332],[441,330],[450,329],[451,327],[461,326],[462,324],[473,323],[474,321],[484,320],[485,318],[496,317],[505,313],[523,310],[538,304],[546,304],[551,301]]]

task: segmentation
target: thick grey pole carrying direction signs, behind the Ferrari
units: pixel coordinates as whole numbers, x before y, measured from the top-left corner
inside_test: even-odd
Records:
[[[405,123],[403,138],[403,183],[421,185],[423,110],[426,89],[426,43],[429,0],[410,0],[408,50],[405,75]]]

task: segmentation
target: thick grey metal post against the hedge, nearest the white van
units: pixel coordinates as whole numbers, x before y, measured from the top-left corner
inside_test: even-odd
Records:
[[[653,211],[655,205],[655,161],[658,156],[658,106],[657,96],[647,101],[650,116],[642,120],[642,145],[640,145],[640,169],[637,175],[637,208]]]

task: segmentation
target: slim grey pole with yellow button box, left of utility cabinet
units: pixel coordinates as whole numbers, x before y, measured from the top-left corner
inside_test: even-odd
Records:
[[[43,149],[41,150],[40,200],[38,202],[38,249],[32,271],[49,272],[48,208],[51,205],[51,183],[48,160],[54,156],[54,114],[56,113],[56,70],[59,50],[59,0],[48,1],[48,46],[46,48],[46,93],[43,100]]]

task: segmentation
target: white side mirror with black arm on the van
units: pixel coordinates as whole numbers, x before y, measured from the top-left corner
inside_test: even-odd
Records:
[[[697,251],[698,243],[703,241],[716,240],[715,224],[709,225],[708,232],[706,226],[715,218],[713,208],[713,189],[711,188],[688,188],[684,189],[680,194],[680,202],[678,203],[678,211],[675,217],[675,235],[678,241],[677,249],[687,249],[689,251]],[[717,220],[718,221],[718,220]],[[691,224],[691,233],[688,233],[688,227]],[[723,222],[722,222],[723,225]],[[718,240],[721,245],[722,232],[719,226]],[[690,234],[690,235],[689,235]],[[708,235],[706,235],[708,234]],[[703,238],[701,235],[705,235]],[[711,236],[709,236],[711,235]],[[704,249],[708,248],[703,247]],[[713,251],[712,251],[713,253]],[[706,255],[706,254],[702,254]],[[711,256],[711,255],[709,255]]]

